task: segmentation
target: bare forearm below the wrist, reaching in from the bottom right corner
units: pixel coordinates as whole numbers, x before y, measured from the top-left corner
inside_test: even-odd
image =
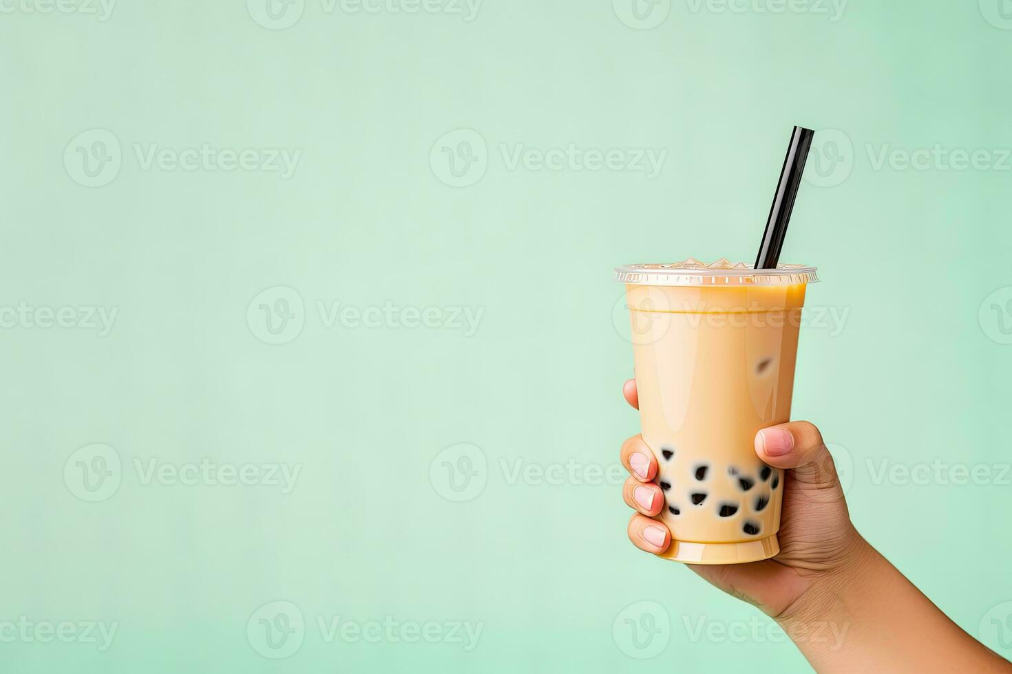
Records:
[[[1012,672],[871,546],[859,546],[846,568],[777,619],[816,671]]]

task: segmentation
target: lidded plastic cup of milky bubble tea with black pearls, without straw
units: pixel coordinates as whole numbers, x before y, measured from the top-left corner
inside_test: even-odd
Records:
[[[662,555],[735,564],[779,552],[782,471],[762,463],[754,439],[790,418],[797,333],[807,284],[797,265],[754,270],[629,265],[625,284],[643,438],[660,467],[671,531]]]

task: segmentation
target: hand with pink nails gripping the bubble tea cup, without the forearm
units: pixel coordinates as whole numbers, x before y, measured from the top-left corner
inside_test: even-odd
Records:
[[[625,382],[625,399],[639,409],[636,380]],[[822,435],[808,421],[763,428],[755,450],[764,463],[784,472],[780,553],[750,564],[687,565],[725,592],[781,616],[822,578],[844,573],[867,544],[850,522],[833,457]],[[622,465],[629,477],[622,488],[625,503],[637,510],[628,523],[634,545],[655,555],[671,545],[671,533],[652,519],[664,507],[661,488],[652,482],[657,460],[642,436],[622,444]]]

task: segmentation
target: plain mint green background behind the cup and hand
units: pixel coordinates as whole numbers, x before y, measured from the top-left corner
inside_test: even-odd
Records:
[[[638,421],[619,395],[631,354],[611,268],[751,260],[793,123],[852,142],[845,180],[803,187],[783,255],[820,267],[811,305],[849,310],[839,334],[806,331],[794,416],[851,459],[860,531],[980,636],[985,613],[1012,600],[1012,487],[875,484],[867,462],[1009,461],[1012,346],[978,315],[1012,285],[1012,172],[875,170],[866,148],[1012,147],[1012,30],[985,19],[988,2],[854,1],[831,21],[683,1],[650,30],[605,0],[486,0],[472,22],[328,15],[310,0],[282,30],[239,0],[122,1],[104,22],[0,14],[0,306],[118,307],[107,336],[0,329],[0,621],[119,622],[104,653],[0,643],[0,667],[809,671],[786,643],[692,642],[683,617],[758,612],[632,549],[618,486],[511,485],[501,463],[616,461]],[[86,188],[63,154],[96,127],[122,143],[122,168]],[[429,163],[456,128],[488,142],[470,187]],[[143,171],[133,152],[201,142],[302,158],[281,180]],[[510,171],[499,152],[570,142],[669,154],[648,180]],[[306,325],[270,346],[246,310],[275,286],[298,290]],[[325,328],[317,300],[484,314],[473,336]],[[89,503],[63,470],[93,443],[116,450],[124,475]],[[465,503],[429,480],[459,443],[489,462]],[[303,472],[283,495],[144,485],[132,463],[203,457]],[[278,661],[246,639],[273,600],[310,623]],[[612,639],[642,600],[671,620],[645,661]],[[327,644],[315,618],[333,615],[484,631],[470,653]]]

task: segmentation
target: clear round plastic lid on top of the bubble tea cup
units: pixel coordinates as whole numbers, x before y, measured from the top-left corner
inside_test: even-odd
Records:
[[[625,265],[615,269],[615,281],[637,286],[786,286],[818,283],[815,267],[777,265],[776,269],[753,269],[725,258],[705,264],[689,258],[683,262]]]

